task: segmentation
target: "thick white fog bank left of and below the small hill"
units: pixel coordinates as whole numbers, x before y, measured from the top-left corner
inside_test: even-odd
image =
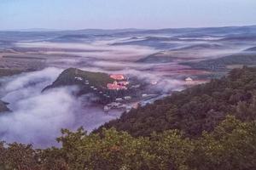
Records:
[[[61,128],[74,130],[83,126],[90,132],[119,116],[120,112],[107,115],[102,108],[90,106],[88,96],[76,99],[72,94],[76,87],[55,88],[42,94],[42,89],[61,71],[47,68],[1,81],[3,100],[9,102],[13,111],[0,116],[2,140],[32,143],[37,147],[55,145]]]

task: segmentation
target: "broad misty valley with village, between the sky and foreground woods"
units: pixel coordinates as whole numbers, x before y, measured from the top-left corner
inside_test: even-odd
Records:
[[[0,31],[0,135],[46,147],[57,145],[63,127],[92,132],[231,69],[256,65],[255,34],[255,26]],[[9,123],[24,127],[6,128]]]

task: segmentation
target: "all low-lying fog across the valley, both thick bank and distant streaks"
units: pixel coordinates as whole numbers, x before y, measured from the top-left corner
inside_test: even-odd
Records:
[[[230,31],[225,31],[227,35],[204,33],[199,37],[196,37],[197,34],[189,36],[190,32],[166,35],[153,32],[155,34],[85,36],[83,40],[72,35],[66,39],[46,35],[47,38],[40,37],[40,40],[35,40],[33,36],[21,36],[19,40],[22,33],[16,36],[7,33],[6,37],[11,37],[14,42],[0,44],[0,68],[38,71],[0,79],[0,98],[9,102],[9,109],[13,111],[0,116],[0,139],[32,143],[36,147],[56,145],[55,138],[60,135],[61,128],[83,126],[90,132],[120,116],[120,111],[107,115],[102,106],[90,105],[94,96],[75,98],[73,92],[78,90],[77,87],[55,88],[41,93],[68,67],[130,74],[141,81],[156,81],[158,83],[152,89],[170,94],[184,88],[186,77],[204,82],[211,74],[180,65],[180,62],[214,59],[256,46],[255,42],[247,39],[244,42],[240,39],[223,40],[232,37]],[[156,58],[151,63],[138,62],[158,54],[170,57],[170,60],[158,62]]]

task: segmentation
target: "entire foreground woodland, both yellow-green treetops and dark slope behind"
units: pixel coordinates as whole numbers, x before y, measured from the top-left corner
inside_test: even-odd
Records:
[[[0,144],[0,169],[256,169],[256,68],[139,107],[60,148]]]

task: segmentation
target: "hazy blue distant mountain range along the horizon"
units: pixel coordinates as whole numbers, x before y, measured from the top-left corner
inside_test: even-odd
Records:
[[[229,40],[239,39],[247,35],[247,39],[250,39],[250,36],[256,34],[256,26],[226,26],[226,27],[208,27],[208,28],[167,28],[167,29],[156,29],[156,30],[146,30],[146,29],[116,29],[116,30],[103,30],[103,29],[84,29],[84,30],[50,30],[50,29],[28,29],[28,30],[16,30],[16,31],[0,31],[0,40],[5,41],[26,41],[26,40],[35,40],[35,41],[49,41],[58,37],[69,37],[72,35],[79,35],[84,37],[85,35],[90,36],[107,36],[107,37],[137,37],[143,36],[148,37],[147,41],[141,42],[142,44],[150,46],[150,42],[155,42],[156,39],[154,36],[169,36],[172,37],[172,40],[175,40],[180,37],[224,37]],[[225,37],[228,36],[228,37]],[[160,38],[160,37],[159,37]],[[165,39],[165,38],[160,38]],[[157,41],[161,41],[158,39]],[[166,39],[167,40],[167,39]],[[166,41],[165,40],[165,41]],[[170,40],[170,39],[169,39]],[[181,41],[181,40],[179,40]],[[136,43],[136,42],[134,42]],[[137,42],[138,43],[138,42]],[[148,44],[147,44],[148,43]],[[115,44],[117,45],[117,44]],[[167,44],[160,44],[166,45]],[[159,47],[160,47],[159,45]]]

